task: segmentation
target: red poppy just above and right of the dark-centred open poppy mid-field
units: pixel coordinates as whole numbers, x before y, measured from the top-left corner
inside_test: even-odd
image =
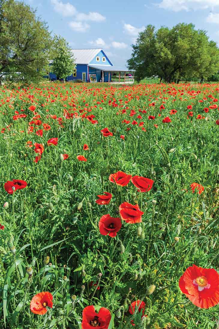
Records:
[[[129,202],[123,202],[119,206],[120,216],[129,224],[141,223],[141,216],[144,214],[138,205],[132,205]]]

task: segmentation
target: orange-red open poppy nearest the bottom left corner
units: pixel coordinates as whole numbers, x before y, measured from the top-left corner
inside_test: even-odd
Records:
[[[37,293],[31,299],[30,311],[39,315],[47,313],[47,307],[52,308],[52,299],[53,296],[48,291]]]

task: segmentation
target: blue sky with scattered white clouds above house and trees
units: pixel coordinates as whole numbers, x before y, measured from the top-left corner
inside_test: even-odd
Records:
[[[219,0],[25,0],[72,48],[103,48],[114,65],[126,66],[131,44],[148,24],[193,23],[219,42]]]

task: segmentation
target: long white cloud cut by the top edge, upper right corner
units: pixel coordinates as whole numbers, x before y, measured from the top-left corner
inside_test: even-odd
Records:
[[[219,0],[162,0],[158,4],[159,8],[179,12],[181,10],[208,9],[219,6]]]

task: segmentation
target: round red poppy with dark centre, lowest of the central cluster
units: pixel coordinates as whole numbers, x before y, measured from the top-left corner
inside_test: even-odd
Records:
[[[119,217],[111,217],[109,214],[103,215],[99,221],[100,234],[108,235],[111,238],[116,236],[116,233],[121,229],[122,222]]]

